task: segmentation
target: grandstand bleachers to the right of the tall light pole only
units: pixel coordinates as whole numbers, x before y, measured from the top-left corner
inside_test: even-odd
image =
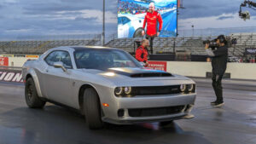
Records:
[[[206,55],[204,40],[215,37],[156,37],[154,39],[155,53],[186,52],[191,55]],[[230,45],[229,54],[237,57],[243,56],[246,48],[256,48],[256,33],[236,33],[233,38],[237,39],[236,45]],[[231,36],[228,37],[230,39]],[[108,47],[125,49],[133,52],[134,38],[119,38],[109,41]]]

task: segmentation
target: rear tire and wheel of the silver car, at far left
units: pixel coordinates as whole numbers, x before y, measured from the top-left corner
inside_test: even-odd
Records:
[[[25,100],[26,105],[30,108],[43,108],[46,103],[46,101],[41,100],[38,96],[38,91],[32,78],[26,79]]]

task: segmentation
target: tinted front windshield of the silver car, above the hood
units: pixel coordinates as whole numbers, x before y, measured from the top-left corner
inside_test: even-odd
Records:
[[[131,55],[117,49],[79,49],[74,52],[74,58],[77,68],[142,67]]]

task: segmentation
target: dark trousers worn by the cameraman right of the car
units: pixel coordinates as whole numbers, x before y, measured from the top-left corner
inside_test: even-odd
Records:
[[[223,102],[223,88],[221,84],[221,80],[223,78],[223,74],[219,75],[217,73],[212,72],[212,87],[214,89],[215,95],[217,97],[216,102]]]

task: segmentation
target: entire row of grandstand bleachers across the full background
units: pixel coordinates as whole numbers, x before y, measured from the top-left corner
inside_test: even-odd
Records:
[[[236,38],[236,46],[232,46],[230,55],[241,57],[246,48],[256,48],[256,33],[234,33],[229,38]],[[206,55],[203,40],[215,37],[156,37],[154,39],[154,53],[186,53],[189,55]],[[111,38],[105,46],[124,49],[127,52],[134,52],[134,41],[138,38]],[[140,39],[141,40],[141,39]],[[0,41],[0,54],[13,55],[40,55],[44,51],[68,45],[101,45],[100,38],[71,39],[71,40],[20,40]]]

